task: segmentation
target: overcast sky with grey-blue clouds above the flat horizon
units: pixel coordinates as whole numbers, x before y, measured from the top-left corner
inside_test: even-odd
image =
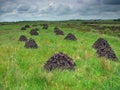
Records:
[[[120,18],[120,0],[0,0],[0,22]]]

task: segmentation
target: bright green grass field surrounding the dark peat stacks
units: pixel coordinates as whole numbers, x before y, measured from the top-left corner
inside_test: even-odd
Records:
[[[42,23],[48,23],[49,29],[43,30]],[[31,28],[21,31],[26,24]],[[29,33],[35,28],[33,24],[38,25],[38,36]],[[107,25],[120,26],[120,23]],[[73,33],[77,41],[55,35],[55,26],[65,35]],[[120,37],[117,37],[120,30],[101,34],[88,29],[91,28],[81,21],[0,23],[0,90],[120,90]],[[33,38],[38,49],[26,49],[25,43],[18,41],[20,35]],[[97,56],[92,45],[99,37],[109,42],[118,61]],[[44,63],[57,52],[74,59],[75,71],[44,70]]]

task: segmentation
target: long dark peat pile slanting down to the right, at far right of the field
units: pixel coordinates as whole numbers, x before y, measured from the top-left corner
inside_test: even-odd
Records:
[[[94,44],[93,48],[97,50],[99,57],[106,57],[107,59],[117,60],[117,57],[110,47],[109,43],[103,38],[99,38]]]

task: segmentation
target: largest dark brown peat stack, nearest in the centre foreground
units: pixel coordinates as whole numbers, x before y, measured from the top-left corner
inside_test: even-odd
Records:
[[[74,63],[72,58],[70,58],[66,54],[59,52],[53,55],[51,58],[49,58],[49,60],[45,63],[44,68],[48,71],[54,69],[74,70],[75,66],[76,64]]]

